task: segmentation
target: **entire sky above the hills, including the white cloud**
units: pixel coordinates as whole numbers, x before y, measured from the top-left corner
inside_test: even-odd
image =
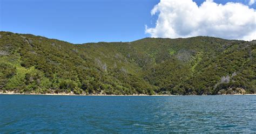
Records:
[[[74,44],[145,37],[256,39],[254,0],[0,0],[0,31]]]

